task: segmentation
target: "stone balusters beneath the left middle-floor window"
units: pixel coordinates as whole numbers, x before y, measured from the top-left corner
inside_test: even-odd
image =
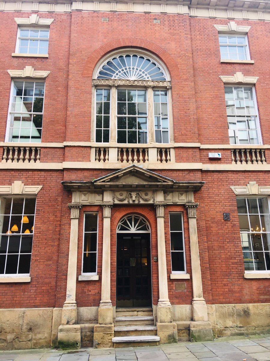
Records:
[[[39,163],[40,147],[3,147],[2,163]]]

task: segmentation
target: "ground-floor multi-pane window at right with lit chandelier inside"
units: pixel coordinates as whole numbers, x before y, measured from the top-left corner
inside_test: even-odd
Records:
[[[237,198],[246,271],[270,271],[270,213],[267,197]]]

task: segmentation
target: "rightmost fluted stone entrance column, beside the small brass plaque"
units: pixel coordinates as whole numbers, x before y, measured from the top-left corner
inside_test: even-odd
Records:
[[[189,202],[187,216],[189,218],[190,255],[193,288],[193,321],[207,321],[207,306],[203,298],[202,274],[200,268],[199,244],[196,223],[196,208],[199,203]]]

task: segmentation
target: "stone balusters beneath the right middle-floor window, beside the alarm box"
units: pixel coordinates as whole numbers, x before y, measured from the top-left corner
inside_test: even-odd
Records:
[[[231,149],[232,164],[267,164],[265,149],[256,148],[234,148]]]

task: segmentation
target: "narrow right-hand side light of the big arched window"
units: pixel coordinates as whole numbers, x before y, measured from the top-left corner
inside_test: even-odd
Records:
[[[169,143],[167,90],[154,90],[153,93],[156,143]]]

